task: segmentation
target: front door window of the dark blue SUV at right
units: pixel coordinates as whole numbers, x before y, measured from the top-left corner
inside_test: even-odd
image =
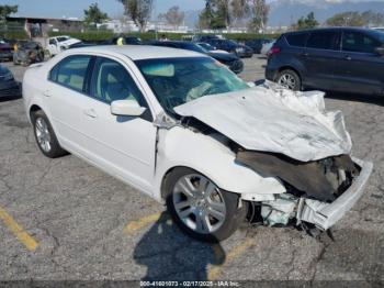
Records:
[[[348,52],[374,53],[382,44],[360,32],[345,32],[342,49]]]

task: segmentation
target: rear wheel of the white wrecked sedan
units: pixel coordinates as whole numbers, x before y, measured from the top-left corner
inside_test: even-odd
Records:
[[[57,158],[66,155],[67,152],[60,147],[46,114],[39,110],[33,112],[31,119],[39,151],[48,158]]]

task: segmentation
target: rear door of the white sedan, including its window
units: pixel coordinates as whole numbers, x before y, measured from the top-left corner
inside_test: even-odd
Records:
[[[60,60],[50,70],[43,99],[47,103],[59,143],[71,152],[88,155],[89,139],[83,133],[84,109],[89,106],[86,82],[92,56],[76,55]]]

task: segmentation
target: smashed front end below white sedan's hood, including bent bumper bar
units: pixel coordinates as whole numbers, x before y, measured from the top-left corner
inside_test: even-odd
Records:
[[[240,151],[237,160],[264,177],[284,182],[286,193],[261,202],[261,217],[268,225],[307,222],[328,230],[363,196],[372,173],[369,162],[348,155],[301,163],[283,155]]]

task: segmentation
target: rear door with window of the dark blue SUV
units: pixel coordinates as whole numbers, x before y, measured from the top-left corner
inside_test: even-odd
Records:
[[[301,55],[305,67],[306,87],[332,89],[335,60],[340,54],[340,33],[337,30],[314,31]]]

